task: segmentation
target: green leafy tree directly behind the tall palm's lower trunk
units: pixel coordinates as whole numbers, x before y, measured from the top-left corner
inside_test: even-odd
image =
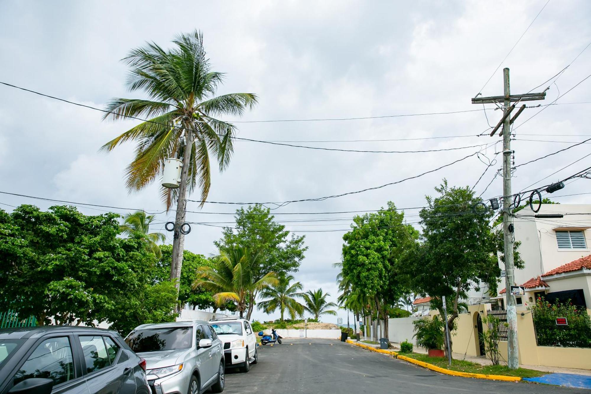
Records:
[[[170,276],[170,259],[173,254],[173,247],[170,245],[161,245],[162,257],[156,263],[157,273],[155,273],[155,283],[168,280]],[[207,259],[202,254],[195,254],[189,250],[183,251],[183,269],[181,270],[181,283],[178,290],[178,302],[180,305],[188,303],[193,309],[207,309],[215,307],[213,302],[213,293],[202,288],[193,290],[193,282],[197,279],[197,270],[203,266],[213,267],[212,260]]]

